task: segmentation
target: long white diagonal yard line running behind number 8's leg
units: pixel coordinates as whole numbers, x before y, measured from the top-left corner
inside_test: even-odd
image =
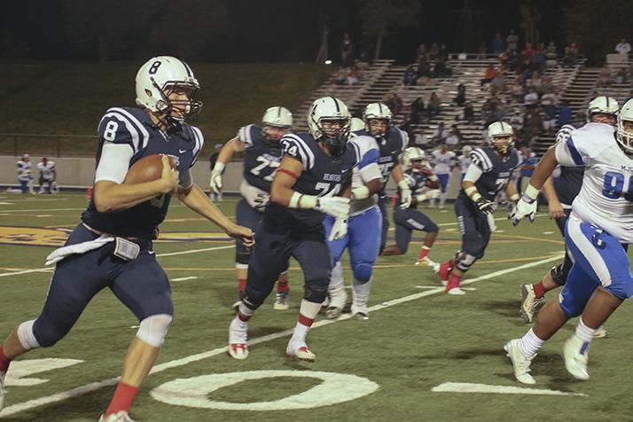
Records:
[[[509,269],[505,269],[505,270],[498,270],[498,271],[494,271],[491,273],[488,273],[486,275],[483,275],[481,277],[475,277],[473,279],[470,280],[465,280],[462,282],[462,285],[469,285],[472,283],[476,283],[478,281],[481,280],[487,280],[488,278],[493,278],[493,277],[499,277],[499,276],[503,276],[505,274],[511,273],[511,272],[515,272],[515,271],[519,271],[519,270],[526,270],[528,268],[532,268],[532,267],[536,267],[538,265],[542,265],[543,263],[547,263],[547,262],[551,262],[551,261],[556,261],[559,260],[560,256],[555,256],[555,257],[551,257],[551,258],[546,258],[540,261],[535,261],[535,262],[528,262],[526,264],[520,265],[519,267],[512,267]],[[385,301],[382,303],[379,303],[378,305],[374,305],[372,306],[369,310],[370,312],[373,311],[378,311],[380,309],[387,309],[390,308],[392,306],[398,305],[400,303],[405,303],[408,301],[416,301],[420,298],[426,297],[426,296],[431,296],[432,294],[436,294],[436,293],[443,293],[445,290],[445,287],[437,287],[435,289],[431,289],[431,290],[426,290],[425,292],[422,293],[414,293],[414,294],[410,294],[408,296],[404,296],[402,298],[398,298],[398,299],[393,299],[391,301]],[[349,314],[345,314],[342,316],[339,316],[337,319],[322,319],[319,321],[316,321],[315,324],[312,324],[312,329],[315,329],[317,327],[322,327],[324,325],[329,325],[329,324],[335,324],[338,323],[340,321],[346,321],[348,319],[351,319],[351,315]],[[264,343],[266,341],[270,341],[270,340],[277,340],[277,339],[281,339],[283,337],[287,337],[289,335],[291,335],[293,333],[293,328],[281,331],[281,332],[273,332],[271,334],[262,336],[262,337],[257,337],[255,339],[249,340],[248,341],[248,345],[249,346],[254,346],[256,344],[260,344],[260,343]],[[159,373],[162,371],[166,371],[168,369],[172,369],[172,368],[177,368],[179,366],[184,366],[187,363],[193,363],[193,362],[198,362],[202,359],[207,359],[208,357],[213,357],[213,356],[218,356],[218,355],[223,355],[225,353],[227,353],[228,347],[227,346],[223,346],[221,348],[214,348],[212,350],[207,350],[206,352],[201,352],[195,355],[191,355],[191,356],[186,356],[186,357],[182,357],[180,359],[175,359],[173,361],[169,361],[166,363],[160,363],[158,365],[155,365],[152,368],[152,371],[150,371],[150,374],[152,373]],[[117,383],[119,378],[111,378],[111,379],[104,379],[103,381],[98,381],[98,382],[92,382],[90,384],[86,384],[84,386],[81,387],[75,387],[73,389],[70,390],[66,390],[62,393],[56,393],[53,395],[45,395],[43,397],[40,397],[38,399],[33,399],[33,400],[27,400],[27,402],[20,402],[17,404],[12,404],[11,406],[7,406],[4,408],[4,410],[0,411],[0,418],[3,417],[7,417],[7,416],[11,416],[11,415],[15,415],[17,413],[20,413],[21,411],[25,411],[25,410],[31,410],[31,409],[35,409],[37,407],[43,406],[45,404],[51,404],[51,403],[55,403],[55,402],[62,402],[64,400],[67,399],[72,399],[74,397],[79,397],[81,395],[86,395],[88,393],[91,393],[93,391],[96,391],[100,388],[103,387],[110,387],[113,386],[114,384]]]

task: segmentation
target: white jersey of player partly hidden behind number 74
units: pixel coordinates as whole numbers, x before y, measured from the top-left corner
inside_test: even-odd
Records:
[[[352,137],[350,144],[354,144],[362,157],[352,172],[352,189],[362,187],[374,179],[382,178],[379,168],[380,150],[373,137],[364,135]],[[349,215],[359,215],[378,204],[378,195],[374,194],[367,199],[351,199],[349,202]]]

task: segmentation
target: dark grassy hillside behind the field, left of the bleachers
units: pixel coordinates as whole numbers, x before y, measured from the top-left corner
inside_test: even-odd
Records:
[[[141,63],[0,63],[0,133],[93,135],[109,107],[134,106],[134,78]],[[282,105],[291,111],[309,98],[332,67],[300,63],[190,63],[205,106],[196,125],[207,142],[235,136],[239,127],[259,121],[264,110]],[[13,153],[16,137],[0,137],[0,153]],[[56,152],[55,138],[27,137],[19,151]],[[61,138],[64,155],[92,155],[90,138]]]

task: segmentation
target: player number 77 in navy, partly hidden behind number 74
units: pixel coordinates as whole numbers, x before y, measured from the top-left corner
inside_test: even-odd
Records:
[[[211,172],[210,187],[214,192],[222,190],[222,173],[233,153],[244,152],[244,179],[239,186],[241,198],[237,206],[237,223],[254,230],[262,218],[263,207],[270,195],[270,184],[281,162],[279,140],[293,126],[293,114],[281,106],[270,107],[262,117],[262,125],[249,124],[238,130],[238,136],[227,142],[215,161]],[[246,289],[248,259],[251,251],[241,239],[236,239],[235,267],[238,269],[238,295]],[[277,281],[277,297],[273,309],[288,309],[288,269]],[[233,304],[236,308],[239,301]]]

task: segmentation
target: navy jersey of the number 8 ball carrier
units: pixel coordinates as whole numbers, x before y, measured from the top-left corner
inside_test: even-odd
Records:
[[[129,160],[130,168],[148,155],[168,155],[176,160],[181,184],[204,143],[198,128],[184,124],[178,131],[167,134],[140,108],[109,109],[99,122],[98,134],[97,166],[107,142],[129,145],[134,153]],[[167,216],[170,199],[170,195],[159,195],[123,211],[99,213],[93,198],[82,214],[82,221],[93,229],[121,237],[153,238],[158,225]]]

